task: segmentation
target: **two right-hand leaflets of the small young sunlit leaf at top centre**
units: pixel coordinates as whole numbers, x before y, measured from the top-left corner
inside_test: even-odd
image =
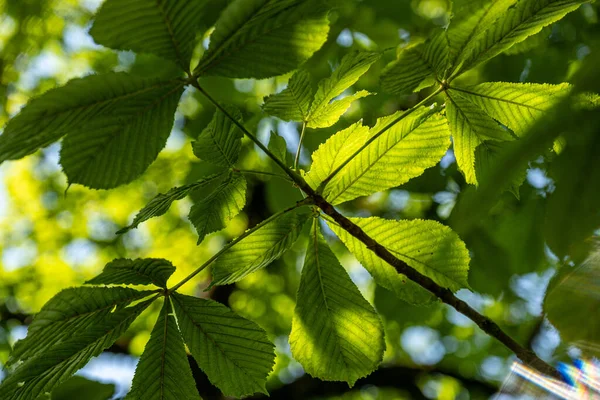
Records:
[[[354,95],[332,102],[334,98],[354,85],[371,65],[379,60],[379,57],[381,57],[379,53],[361,51],[345,55],[331,76],[319,82],[310,115],[306,120],[307,126],[309,128],[327,128],[339,120],[353,101],[368,96],[369,92],[361,90]]]

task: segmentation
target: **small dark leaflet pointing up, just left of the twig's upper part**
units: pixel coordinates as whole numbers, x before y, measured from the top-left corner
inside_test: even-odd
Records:
[[[225,109],[238,122],[242,122],[242,113],[237,108],[226,106]],[[210,124],[192,143],[194,155],[211,164],[232,167],[240,154],[242,136],[242,131],[231,119],[217,110]]]

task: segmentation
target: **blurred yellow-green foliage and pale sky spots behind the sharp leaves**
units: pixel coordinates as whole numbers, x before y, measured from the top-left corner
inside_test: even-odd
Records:
[[[214,0],[207,9],[205,38],[226,3]],[[98,2],[93,0],[0,0],[0,126],[28,98],[76,76],[113,70],[143,76],[173,75],[172,65],[153,56],[96,46],[87,30],[97,6]],[[445,0],[339,2],[330,15],[328,41],[305,67],[315,79],[321,79],[350,50],[389,50],[384,53],[385,59],[374,64],[355,85],[357,90],[379,92],[379,76],[394,58],[395,47],[427,37],[434,28],[444,26],[450,19],[450,10],[451,5]],[[460,79],[465,83],[570,81],[589,54],[598,51],[599,12],[599,5],[585,4],[515,46],[510,54],[500,55]],[[196,57],[202,51],[196,49]],[[206,77],[201,83],[217,100],[238,106],[246,126],[257,132],[263,142],[268,141],[271,131],[277,131],[287,140],[288,151],[293,152],[298,141],[298,124],[268,117],[260,108],[263,98],[281,89],[288,77],[265,80]],[[590,90],[599,86],[600,78],[594,79],[595,82],[585,82]],[[318,133],[308,129],[301,165],[309,164],[309,154],[331,134],[359,118],[372,125],[377,117],[416,104],[419,96],[378,93],[354,103],[334,126]],[[51,296],[62,288],[83,283],[113,258],[168,259],[177,265],[171,283],[177,282],[247,227],[301,198],[299,191],[278,178],[252,176],[248,177],[250,197],[242,214],[199,246],[194,227],[185,218],[191,206],[189,199],[176,203],[160,219],[115,236],[114,232],[127,226],[156,194],[214,172],[209,164],[194,158],[190,145],[208,125],[213,113],[214,108],[197,92],[186,92],[166,151],[141,179],[111,191],[68,188],[57,164],[57,145],[0,167],[0,363],[6,361],[20,327],[27,325],[31,315]],[[598,134],[597,126],[592,134]],[[598,142],[597,138],[594,140]],[[244,139],[242,146],[240,168],[263,169],[269,163],[254,151],[250,141]],[[597,143],[595,146],[598,147]],[[572,151],[577,149],[557,157],[563,157],[566,168],[581,176],[585,174],[585,166],[577,169],[580,166],[575,165],[573,157],[576,159],[578,155],[571,154]],[[600,159],[596,153],[589,157],[596,164]],[[556,175],[557,171],[549,167],[552,158],[539,157],[529,163],[528,178],[518,199],[511,193],[503,193],[473,228],[464,233],[459,230],[471,253],[469,282],[473,289],[472,293],[463,290],[459,295],[498,321],[518,341],[529,343],[543,358],[554,361],[567,360],[569,354],[577,353],[573,353],[568,342],[559,341],[556,331],[540,323],[545,286],[559,267],[546,245],[550,239],[544,231],[544,221],[548,209],[568,218],[578,206],[575,203],[572,209],[564,209],[553,204],[553,179],[560,179],[560,171]],[[596,175],[597,170],[593,170]],[[448,222],[467,187],[449,153],[422,176],[388,192],[345,203],[340,209],[353,216]],[[592,222],[598,225],[597,221]],[[454,226],[455,221],[451,219],[450,224]],[[328,239],[350,276],[384,317],[387,351],[382,368],[403,366],[422,371],[415,385],[429,398],[467,398],[469,391],[476,396],[473,380],[492,385],[501,381],[512,359],[499,343],[441,303],[417,307],[398,300],[386,289],[375,288],[344,246],[332,234]],[[235,285],[205,292],[210,276],[203,272],[194,284],[183,288],[187,294],[229,304],[239,314],[256,321],[275,340],[278,357],[269,389],[291,385],[301,375],[299,365],[291,358],[287,335],[305,247],[306,242],[299,241],[280,260]],[[597,279],[597,274],[594,276]],[[145,313],[113,350],[139,356],[157,313],[156,308]],[[435,384],[430,383],[433,381]],[[325,397],[408,398],[403,397],[402,388],[395,391],[361,387],[360,381],[356,390],[347,390],[347,394]],[[73,397],[64,394],[60,398]]]

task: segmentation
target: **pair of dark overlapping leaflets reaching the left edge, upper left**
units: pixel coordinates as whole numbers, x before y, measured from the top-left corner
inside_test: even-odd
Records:
[[[0,162],[67,135],[62,163],[70,182],[95,188],[129,182],[165,145],[181,87],[126,73],[73,79],[29,101],[8,123],[0,136]],[[90,166],[98,170],[86,171]]]

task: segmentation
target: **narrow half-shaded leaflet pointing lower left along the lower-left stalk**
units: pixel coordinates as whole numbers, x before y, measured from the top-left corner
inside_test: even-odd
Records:
[[[225,251],[213,265],[213,283],[234,283],[266,267],[298,239],[306,214],[289,212],[259,227]]]

